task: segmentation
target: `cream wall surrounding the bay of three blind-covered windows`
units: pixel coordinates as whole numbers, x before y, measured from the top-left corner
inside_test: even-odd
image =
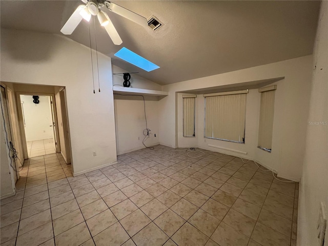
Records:
[[[175,114],[178,112],[176,92],[284,77],[283,80],[274,83],[278,85],[278,89],[275,100],[273,151],[271,153],[257,148],[260,95],[256,90],[250,90],[248,95],[245,130],[247,144],[242,145],[214,139],[206,139],[207,142],[205,143],[202,137],[203,99],[201,98],[197,99],[199,111],[198,124],[196,122],[198,125],[196,134],[199,136],[197,142],[198,146],[203,149],[231,155],[237,155],[237,153],[211,148],[208,144],[248,152],[247,155],[239,154],[238,156],[258,160],[262,165],[277,170],[280,177],[299,180],[305,146],[306,115],[309,108],[311,65],[312,56],[310,55],[163,86],[163,90],[169,91],[169,96],[159,101],[161,112],[159,116],[160,144],[177,147],[177,139],[179,139],[177,133],[179,131],[174,130],[177,124]],[[187,143],[185,144],[187,145]]]

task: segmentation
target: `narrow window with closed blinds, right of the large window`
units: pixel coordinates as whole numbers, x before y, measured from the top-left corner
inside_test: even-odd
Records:
[[[275,90],[277,86],[259,89],[261,92],[260,124],[258,129],[258,148],[271,152]]]

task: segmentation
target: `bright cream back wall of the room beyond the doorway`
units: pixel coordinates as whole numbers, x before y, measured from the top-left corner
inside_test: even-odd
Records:
[[[24,108],[26,141],[53,138],[50,96],[39,96],[39,103],[33,103],[30,95],[20,95]]]

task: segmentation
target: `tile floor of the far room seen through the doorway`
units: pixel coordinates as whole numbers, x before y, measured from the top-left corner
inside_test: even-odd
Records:
[[[52,138],[37,141],[27,141],[26,143],[29,157],[56,153]]]

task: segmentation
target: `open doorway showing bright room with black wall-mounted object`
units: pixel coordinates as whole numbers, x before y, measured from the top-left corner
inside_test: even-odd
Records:
[[[20,95],[29,158],[56,153],[52,101],[48,95]]]

